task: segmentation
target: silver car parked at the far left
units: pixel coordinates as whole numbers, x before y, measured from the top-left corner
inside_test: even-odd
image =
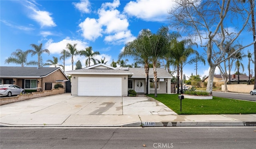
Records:
[[[0,85],[0,95],[11,97],[12,95],[24,94],[25,91],[21,87],[13,84]]]

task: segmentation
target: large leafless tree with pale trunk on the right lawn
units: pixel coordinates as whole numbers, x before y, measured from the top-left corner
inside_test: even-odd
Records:
[[[254,40],[237,48],[230,56],[224,58],[227,48],[238,42],[240,34],[248,24],[252,14],[249,1],[243,3],[236,0],[176,0],[169,14],[172,20],[171,27],[178,28],[199,40],[201,47],[206,51],[210,66],[206,91],[210,94],[215,68],[236,52],[256,42]],[[232,31],[230,26],[236,30]],[[229,43],[224,45],[227,36]],[[213,56],[216,59],[212,59]]]

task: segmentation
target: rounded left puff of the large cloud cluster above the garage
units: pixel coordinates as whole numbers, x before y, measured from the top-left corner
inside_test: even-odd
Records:
[[[79,24],[79,27],[82,30],[82,36],[87,40],[94,41],[102,36],[102,25],[94,18],[86,18],[84,22]]]

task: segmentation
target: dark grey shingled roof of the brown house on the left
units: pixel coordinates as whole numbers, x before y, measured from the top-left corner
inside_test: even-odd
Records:
[[[7,67],[0,66],[0,77],[23,77],[23,78],[41,78],[60,70],[59,67]],[[64,74],[66,76],[66,74]],[[68,79],[68,77],[66,76]]]

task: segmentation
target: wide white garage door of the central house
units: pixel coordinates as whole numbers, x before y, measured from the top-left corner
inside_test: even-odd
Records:
[[[122,77],[78,77],[78,96],[122,96]]]

